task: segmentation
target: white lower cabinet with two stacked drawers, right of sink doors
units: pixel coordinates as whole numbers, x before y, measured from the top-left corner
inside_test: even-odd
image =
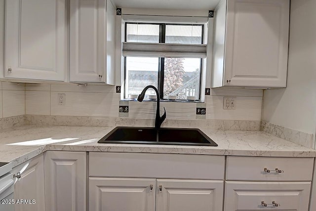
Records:
[[[314,158],[228,156],[224,211],[308,211],[313,166]]]

